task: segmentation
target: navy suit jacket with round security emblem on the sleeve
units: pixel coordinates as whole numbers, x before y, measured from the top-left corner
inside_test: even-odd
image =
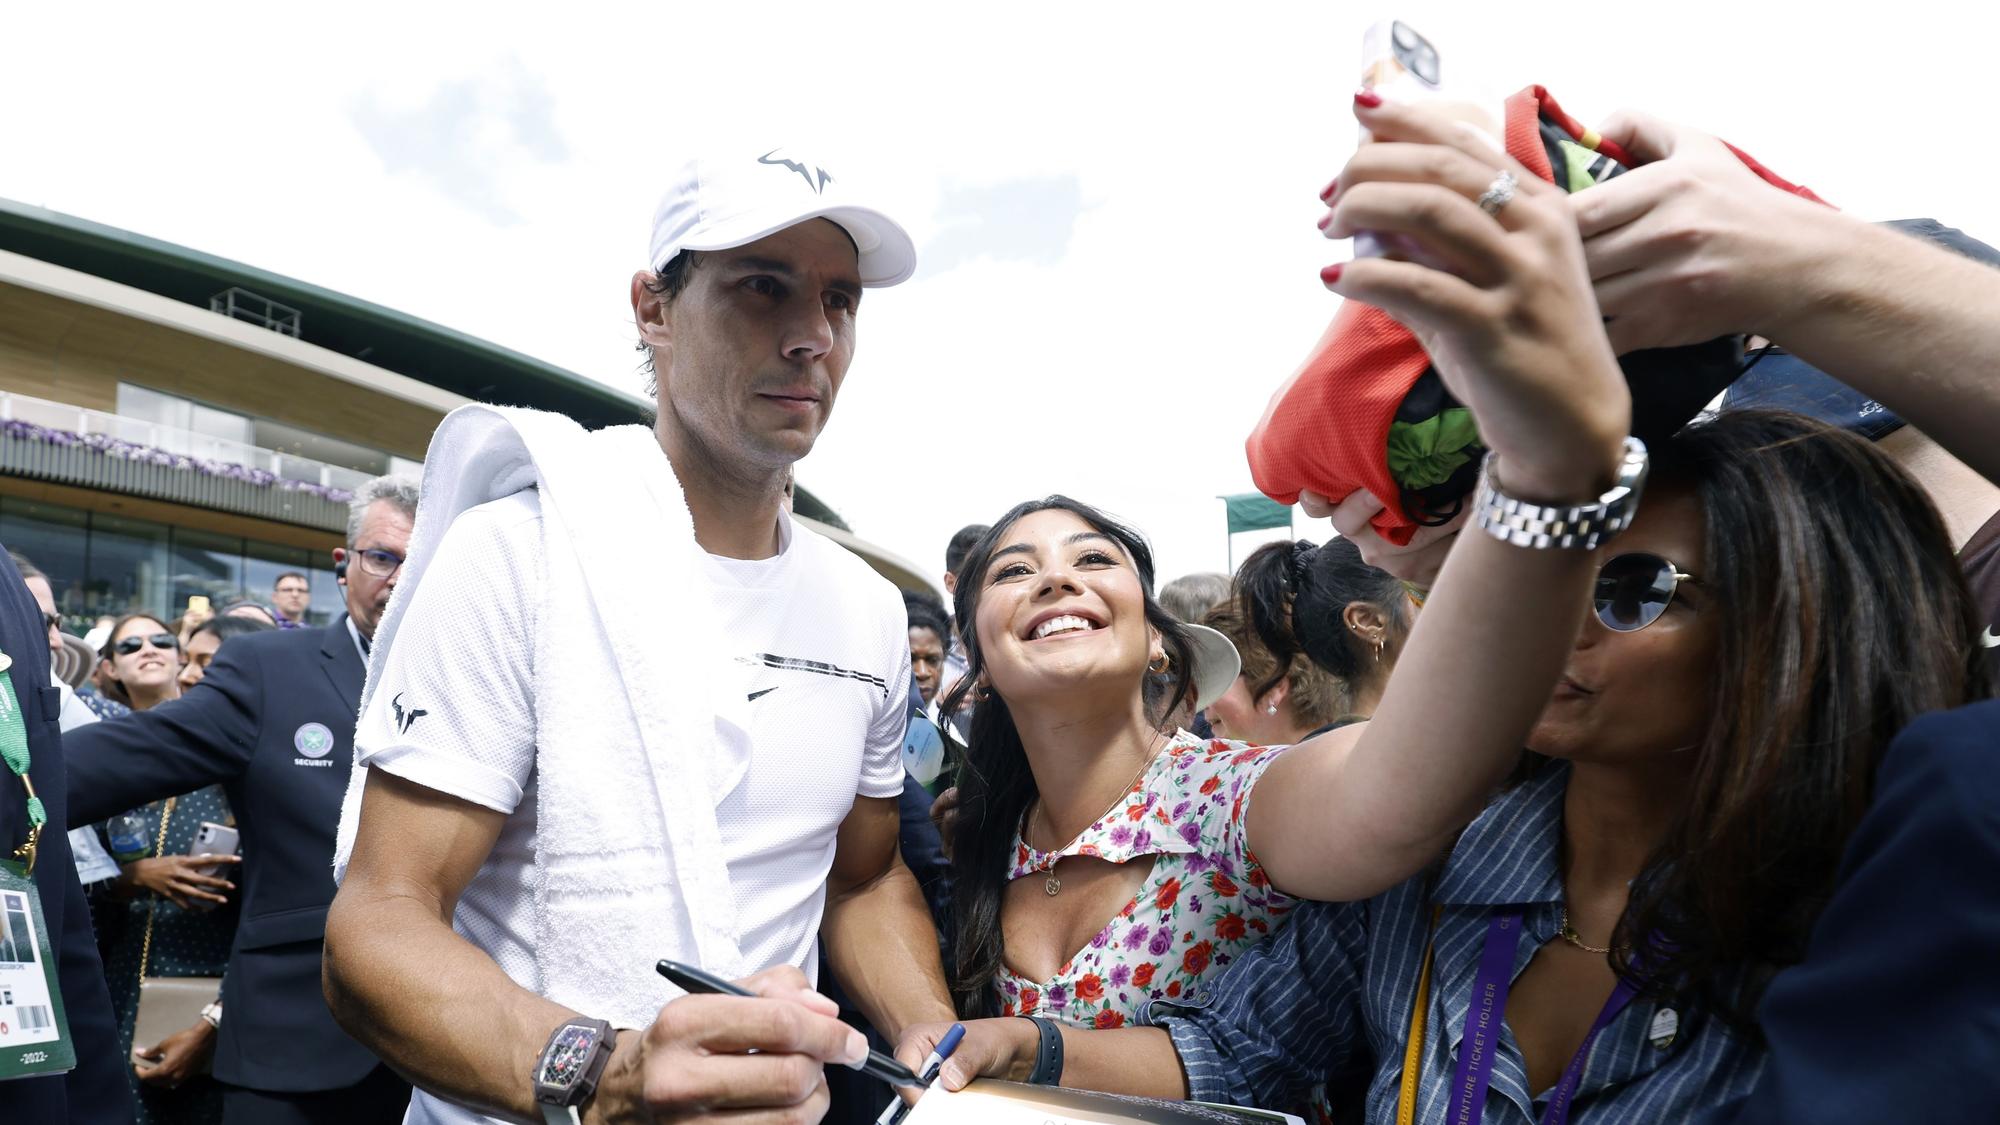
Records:
[[[320,991],[334,833],[366,669],[346,619],[236,637],[186,695],[70,733],[78,821],[220,783],[244,863],[222,981],[216,1077],[262,1091],[338,1089],[378,1063]]]

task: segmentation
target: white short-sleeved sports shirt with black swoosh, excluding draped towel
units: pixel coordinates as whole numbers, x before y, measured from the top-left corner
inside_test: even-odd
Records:
[[[706,556],[702,591],[650,589],[642,565],[632,573],[624,609],[650,619],[646,635],[660,645],[682,643],[676,601],[712,599],[732,669],[752,699],[750,769],[716,809],[744,959],[758,969],[798,965],[814,977],[840,821],[856,795],[902,793],[910,691],[902,597],[790,516],[772,558]],[[538,621],[542,575],[534,490],[458,516],[404,609],[382,685],[354,733],[362,765],[506,813],[452,929],[534,993],[542,991],[532,951],[534,693],[620,691],[534,667],[536,631],[588,627]],[[606,707],[622,703],[606,699]],[[634,971],[650,973],[652,963]],[[520,1081],[526,1087],[530,1075]],[[496,1119],[418,1091],[406,1121]]]

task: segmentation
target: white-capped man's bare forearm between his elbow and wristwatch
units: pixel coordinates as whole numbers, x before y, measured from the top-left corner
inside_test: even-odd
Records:
[[[344,887],[326,915],[326,1001],[418,1087],[540,1123],[530,1075],[570,1009],[516,985],[418,899]]]

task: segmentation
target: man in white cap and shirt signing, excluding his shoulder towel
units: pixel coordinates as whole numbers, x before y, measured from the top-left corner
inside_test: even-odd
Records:
[[[420,1087],[408,1121],[756,1109],[814,1121],[820,1067],[866,1053],[802,971],[816,935],[892,1039],[950,1019],[930,917],[896,857],[910,683],[900,599],[784,508],[790,466],[846,376],[862,288],[914,266],[900,226],[838,202],[826,170],[766,152],[688,164],[660,204],[650,268],[632,278],[654,436],[706,556],[702,589],[624,609],[662,607],[650,637],[670,647],[682,625],[672,607],[700,599],[728,647],[732,699],[748,701],[730,727],[748,765],[716,803],[716,827],[742,959],[762,967],[742,981],[756,997],[680,997],[650,1027],[614,1031],[542,995],[536,843],[554,807],[538,799],[550,733],[536,697],[568,687],[536,657],[578,627],[540,621],[550,603],[536,593],[574,573],[552,567],[546,500],[530,488],[462,512],[406,589],[356,735],[370,773],[324,975],[340,1023]],[[632,512],[652,518],[644,504]],[[630,705],[620,683],[590,691],[606,713]],[[618,849],[616,827],[608,837]],[[652,975],[644,951],[628,961]]]

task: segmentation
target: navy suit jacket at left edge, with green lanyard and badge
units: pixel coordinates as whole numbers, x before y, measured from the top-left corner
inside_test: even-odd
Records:
[[[20,581],[14,560],[0,550],[0,653],[14,659],[6,675],[14,681],[22,721],[28,725],[28,779],[42,797],[48,825],[34,863],[34,887],[42,897],[48,947],[56,955],[56,983],[62,989],[76,1069],[62,1077],[0,1083],[0,1121],[132,1121],[118,1057],[118,1027],[112,997],[104,987],[104,965],[90,933],[90,907],[76,881],[70,857],[70,803],[62,781],[62,731],[56,713],[62,697],[48,679],[48,631],[42,607]],[[82,823],[82,821],[76,821]],[[0,769],[0,853],[12,859],[28,841],[28,791],[10,771]]]

